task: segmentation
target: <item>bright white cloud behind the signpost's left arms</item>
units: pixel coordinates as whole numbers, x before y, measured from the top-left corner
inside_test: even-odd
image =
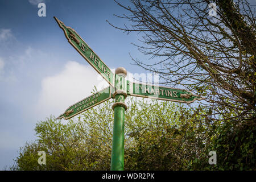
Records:
[[[39,118],[59,116],[68,106],[90,96],[109,84],[90,66],[68,61],[63,71],[42,80],[42,90],[35,107]]]

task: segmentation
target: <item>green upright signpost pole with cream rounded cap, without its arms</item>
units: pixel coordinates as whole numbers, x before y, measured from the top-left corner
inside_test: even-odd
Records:
[[[114,110],[114,126],[113,126],[113,143],[112,143],[112,156],[111,156],[111,171],[123,171],[124,169],[124,135],[125,135],[125,105],[126,82],[125,77],[127,71],[125,68],[115,69],[115,92],[113,94],[115,104],[112,109]]]

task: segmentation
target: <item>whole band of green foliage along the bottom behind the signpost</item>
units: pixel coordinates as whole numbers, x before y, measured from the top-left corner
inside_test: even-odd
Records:
[[[255,128],[201,117],[185,105],[126,98],[125,170],[254,169]],[[76,121],[54,117],[37,123],[38,139],[20,148],[13,170],[109,170],[113,102],[85,111]],[[207,108],[197,106],[201,114]],[[228,149],[228,150],[227,150]],[[217,165],[208,152],[217,151]],[[46,165],[38,164],[46,152]],[[233,168],[230,168],[233,166]]]

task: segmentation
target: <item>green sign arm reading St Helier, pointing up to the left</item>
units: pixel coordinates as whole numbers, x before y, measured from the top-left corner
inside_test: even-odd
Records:
[[[73,28],[65,26],[65,24],[55,16],[54,18],[60,28],[64,31],[68,42],[77,50],[77,52],[80,53],[82,57],[84,57],[86,61],[88,61],[90,65],[92,65],[98,73],[100,73],[106,81],[108,81],[110,85],[114,86],[114,73],[108,68],[108,66],[100,59],[100,57],[98,57],[98,55],[96,55],[92,48],[85,43]]]

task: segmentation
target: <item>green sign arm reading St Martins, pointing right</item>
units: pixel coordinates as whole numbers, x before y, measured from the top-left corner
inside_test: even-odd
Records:
[[[130,81],[127,81],[127,95],[184,103],[192,103],[196,100],[200,101],[204,99],[204,97],[197,96],[192,92],[184,89],[137,84]]]

